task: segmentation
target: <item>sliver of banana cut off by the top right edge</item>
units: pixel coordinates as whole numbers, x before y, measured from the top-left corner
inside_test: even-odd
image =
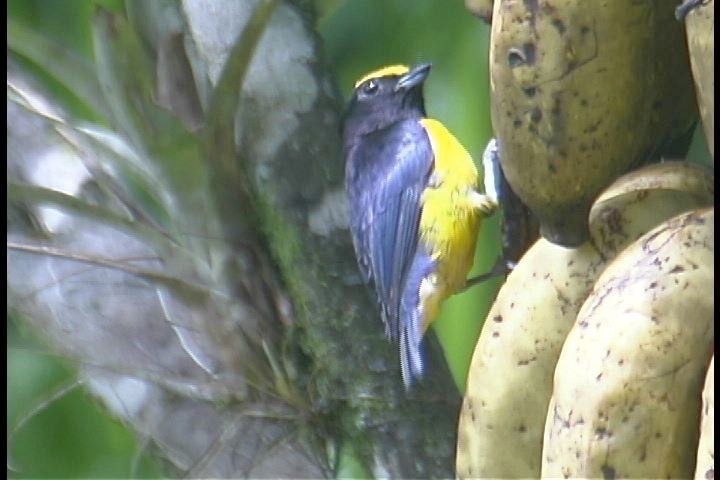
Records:
[[[699,2],[685,17],[690,65],[705,139],[715,159],[715,10],[713,0]]]

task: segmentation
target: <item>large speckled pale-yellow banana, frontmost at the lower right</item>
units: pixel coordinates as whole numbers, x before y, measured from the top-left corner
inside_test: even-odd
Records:
[[[542,477],[690,478],[714,343],[714,210],[674,217],[605,269],[563,345]]]

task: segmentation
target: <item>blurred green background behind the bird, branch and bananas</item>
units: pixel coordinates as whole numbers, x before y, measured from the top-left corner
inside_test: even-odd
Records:
[[[316,4],[317,30],[343,98],[348,98],[357,78],[380,66],[432,62],[425,89],[428,113],[455,133],[480,166],[491,135],[489,28],[465,10],[463,1],[319,0]],[[124,9],[120,0],[11,0],[8,17],[92,58],[90,18],[96,5],[116,12]],[[32,65],[24,63],[32,71]],[[63,96],[62,87],[48,85]],[[74,111],[71,103],[67,108],[89,115],[79,106]],[[709,156],[700,130],[696,137],[690,156],[703,161]],[[473,274],[492,266],[499,254],[498,238],[498,221],[491,219],[480,234]],[[499,283],[499,279],[489,281],[451,298],[435,323],[461,391],[482,320]],[[82,388],[54,399],[59,390],[74,385],[73,366],[52,355],[13,312],[8,312],[7,338],[9,438],[22,421],[8,448],[9,478],[162,476],[159,465],[137,444],[132,432],[108,416]],[[351,469],[342,472],[353,474]]]

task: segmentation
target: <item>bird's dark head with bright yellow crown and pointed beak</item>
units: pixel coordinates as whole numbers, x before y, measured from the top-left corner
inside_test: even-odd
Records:
[[[343,116],[345,139],[371,133],[408,118],[425,116],[422,86],[430,64],[412,69],[392,65],[375,70],[355,83]]]

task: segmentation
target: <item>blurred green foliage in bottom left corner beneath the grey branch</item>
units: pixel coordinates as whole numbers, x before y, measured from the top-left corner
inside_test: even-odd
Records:
[[[10,437],[8,478],[160,476],[148,455],[138,452],[134,436],[82,389],[49,401],[58,386],[72,385],[74,374],[13,315],[8,315],[7,336],[8,432],[33,408]],[[34,411],[46,401],[45,409]]]

